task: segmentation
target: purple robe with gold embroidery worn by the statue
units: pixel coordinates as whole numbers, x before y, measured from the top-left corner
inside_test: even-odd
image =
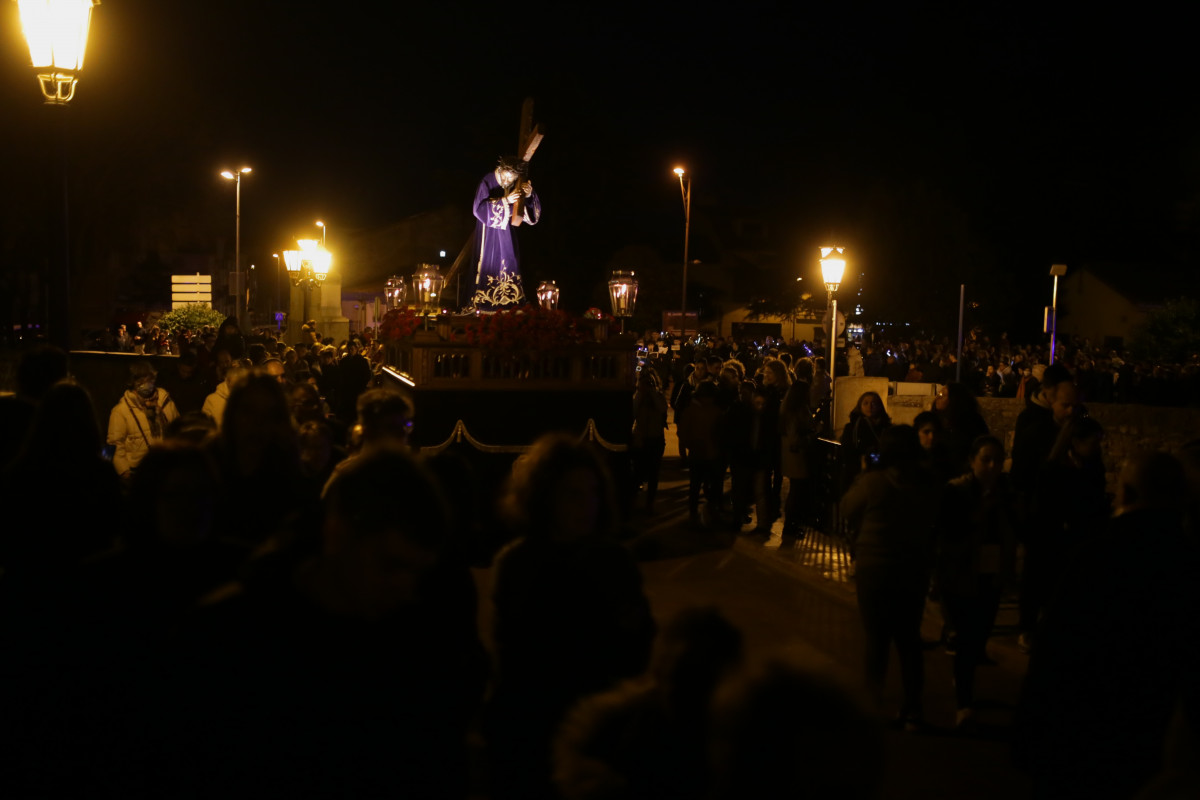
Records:
[[[481,311],[516,308],[526,302],[521,287],[517,242],[509,227],[512,206],[504,199],[509,191],[500,186],[496,170],[484,175],[475,192],[475,294],[472,305]],[[538,224],[541,200],[538,192],[524,198],[521,223]]]

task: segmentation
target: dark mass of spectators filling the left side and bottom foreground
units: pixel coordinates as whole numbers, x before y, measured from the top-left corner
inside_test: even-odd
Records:
[[[108,462],[66,355],[25,354],[2,415],[6,795],[845,793],[823,769],[839,759],[848,796],[874,795],[882,745],[852,693],[748,667],[712,608],[659,633],[588,445],[539,439],[488,522],[468,463],[409,451],[402,395],[367,387],[340,420],[312,384],[241,357],[218,419],[168,413],[134,366],[109,429],[136,420],[146,446]],[[506,543],[481,557],[487,524]]]

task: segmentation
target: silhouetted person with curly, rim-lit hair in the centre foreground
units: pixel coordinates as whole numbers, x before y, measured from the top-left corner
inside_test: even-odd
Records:
[[[566,711],[649,664],[654,620],[637,564],[614,541],[613,495],[604,462],[565,434],[514,465],[504,505],[518,539],[496,560],[485,718],[498,800],[554,796],[551,741]]]

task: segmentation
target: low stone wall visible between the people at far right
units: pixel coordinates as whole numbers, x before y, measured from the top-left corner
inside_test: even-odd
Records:
[[[1016,415],[1024,408],[1024,399],[979,398],[979,409],[988,422],[988,429],[1003,440],[1009,452],[1013,449]],[[1092,403],[1087,407],[1087,413],[1104,426],[1104,467],[1110,491],[1116,486],[1116,474],[1121,465],[1133,453],[1141,450],[1174,453],[1193,439],[1200,439],[1200,409]]]

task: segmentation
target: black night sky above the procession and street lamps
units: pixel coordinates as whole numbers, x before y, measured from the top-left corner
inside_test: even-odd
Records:
[[[815,279],[816,247],[834,240],[894,318],[953,306],[966,282],[980,321],[1036,326],[1055,261],[1156,267],[1165,295],[1192,290],[1200,136],[1182,18],[430,5],[96,8],[68,110],[79,258],[112,269],[148,248],[230,247],[233,188],[217,173],[242,163],[254,168],[250,260],[316,235],[317,218],[336,253],[340,234],[445,204],[467,213],[532,96],[546,211],[521,234],[527,283],[589,287],[637,246],[677,275],[670,170],[683,163],[694,255],[734,269],[730,252],[755,251],[756,290]],[[62,109],[41,104],[16,4],[0,4],[0,259],[12,270],[41,241]],[[733,219],[766,234],[739,242]]]

